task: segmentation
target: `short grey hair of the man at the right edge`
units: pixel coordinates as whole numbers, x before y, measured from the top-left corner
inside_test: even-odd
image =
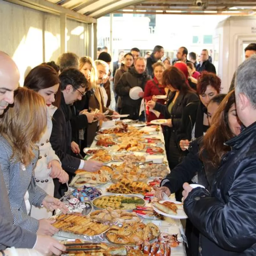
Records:
[[[244,60],[237,68],[235,92],[243,93],[256,109],[256,54]]]

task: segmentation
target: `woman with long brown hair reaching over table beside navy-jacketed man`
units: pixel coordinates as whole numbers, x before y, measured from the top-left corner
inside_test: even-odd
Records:
[[[190,143],[189,153],[181,164],[164,178],[160,188],[155,188],[156,196],[162,199],[163,192],[168,196],[182,188],[184,182],[194,180],[209,191],[215,178],[222,157],[231,150],[225,142],[241,131],[241,125],[236,116],[235,93],[230,92],[220,103],[217,110],[214,103],[223,99],[223,94],[210,100],[207,107],[211,120],[211,127],[205,136]],[[213,111],[212,111],[213,110]],[[213,117],[212,117],[213,116]],[[197,256],[199,247],[199,231],[188,220],[186,223],[188,238],[187,255]]]

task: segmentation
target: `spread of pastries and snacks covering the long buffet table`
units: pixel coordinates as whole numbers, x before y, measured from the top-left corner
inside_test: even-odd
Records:
[[[151,136],[152,128],[141,130],[132,124],[116,121],[115,127],[100,130],[92,148],[84,149],[86,159],[104,165],[97,172],[77,170],[70,183],[76,189],[71,196],[79,202],[88,200],[93,211],[88,216],[60,215],[53,225],[64,233],[93,238],[85,241],[89,244],[76,239],[77,245],[68,246],[63,255],[176,256],[176,248],[181,248],[177,255],[185,255],[179,232],[164,233],[160,224],[164,212],[177,215],[183,205],[153,200],[152,186],[159,186],[170,172],[166,157],[160,163],[154,160],[159,156],[150,156],[164,156],[162,137]]]

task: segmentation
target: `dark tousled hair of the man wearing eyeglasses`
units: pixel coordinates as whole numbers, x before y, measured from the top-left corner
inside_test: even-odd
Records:
[[[80,87],[85,88],[86,91],[89,86],[84,74],[76,68],[64,69],[61,72],[59,78],[61,91],[65,90],[67,85],[69,84],[71,84],[74,87],[74,91],[76,89],[79,89]]]

